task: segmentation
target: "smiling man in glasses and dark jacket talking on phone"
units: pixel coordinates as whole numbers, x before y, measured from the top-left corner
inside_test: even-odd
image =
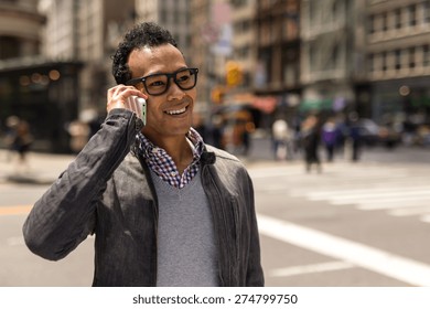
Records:
[[[104,125],[24,223],[29,248],[55,260],[94,233],[94,286],[262,286],[251,180],[191,127],[198,71],[141,23],[112,73]]]

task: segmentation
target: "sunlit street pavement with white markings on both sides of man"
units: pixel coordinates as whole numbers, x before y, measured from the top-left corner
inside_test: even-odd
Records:
[[[254,180],[267,286],[430,286],[430,149],[365,149],[307,173],[255,140]],[[21,226],[72,156],[31,153],[14,175],[0,150],[0,286],[90,286],[93,237],[61,262],[34,256]]]

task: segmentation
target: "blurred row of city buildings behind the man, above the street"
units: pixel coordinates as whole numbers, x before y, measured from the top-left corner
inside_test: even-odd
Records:
[[[195,121],[212,143],[246,153],[249,135],[271,136],[277,119],[298,132],[309,114],[357,116],[366,143],[430,143],[424,0],[1,0],[2,137],[19,118],[33,150],[78,151],[139,21],[168,28],[200,68]]]

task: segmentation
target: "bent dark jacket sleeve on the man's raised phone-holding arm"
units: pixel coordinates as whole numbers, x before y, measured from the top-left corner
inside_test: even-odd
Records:
[[[98,200],[141,126],[132,111],[109,113],[98,132],[35,202],[22,228],[30,251],[57,260],[93,233]]]

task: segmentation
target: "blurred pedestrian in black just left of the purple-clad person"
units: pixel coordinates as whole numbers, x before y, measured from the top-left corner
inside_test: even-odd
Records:
[[[315,115],[308,116],[301,125],[300,132],[307,171],[310,172],[314,164],[316,166],[316,171],[321,172],[319,118]]]

